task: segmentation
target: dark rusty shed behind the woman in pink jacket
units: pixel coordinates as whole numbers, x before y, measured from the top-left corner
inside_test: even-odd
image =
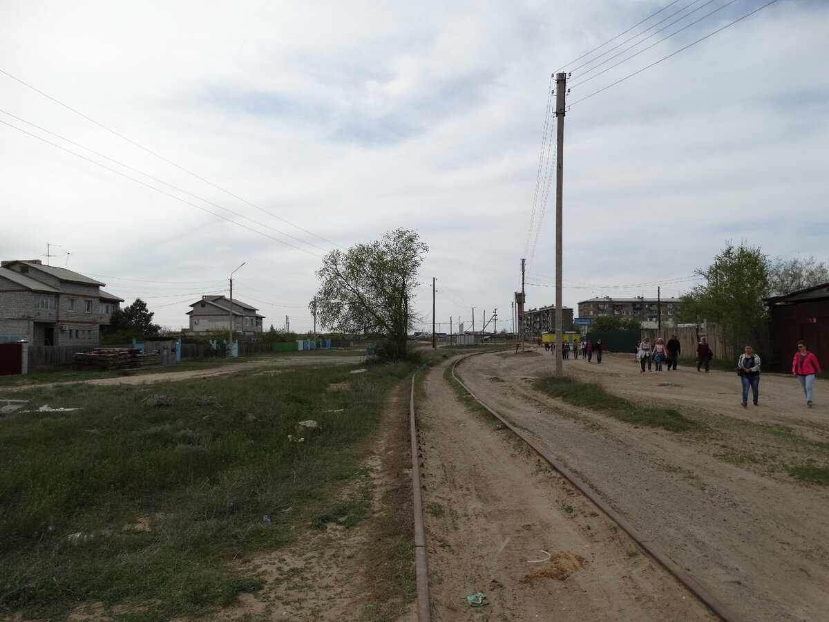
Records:
[[[791,372],[801,339],[818,361],[829,366],[829,283],[773,296],[764,303],[768,305],[773,352],[769,371]]]

